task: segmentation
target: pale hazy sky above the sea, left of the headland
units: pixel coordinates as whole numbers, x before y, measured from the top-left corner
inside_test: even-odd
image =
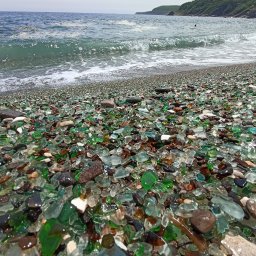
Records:
[[[0,11],[135,13],[191,0],[0,0]]]

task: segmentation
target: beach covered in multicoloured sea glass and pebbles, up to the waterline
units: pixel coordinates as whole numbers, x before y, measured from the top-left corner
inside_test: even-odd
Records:
[[[254,255],[255,68],[1,93],[0,253]]]

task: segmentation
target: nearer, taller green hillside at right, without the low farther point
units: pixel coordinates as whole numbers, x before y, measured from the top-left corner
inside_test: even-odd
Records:
[[[256,0],[194,0],[180,6],[179,15],[256,17]]]

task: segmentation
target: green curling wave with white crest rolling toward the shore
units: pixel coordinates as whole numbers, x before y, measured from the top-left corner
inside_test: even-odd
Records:
[[[225,43],[223,38],[165,38],[133,41],[104,40],[53,40],[12,41],[0,45],[0,62],[3,66],[44,65],[67,62],[79,58],[123,56],[134,52],[157,52],[172,49],[210,47]]]

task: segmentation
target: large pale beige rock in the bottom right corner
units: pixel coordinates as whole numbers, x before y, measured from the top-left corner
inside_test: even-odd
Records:
[[[226,235],[221,243],[228,250],[230,255],[255,256],[256,245],[241,236]]]

